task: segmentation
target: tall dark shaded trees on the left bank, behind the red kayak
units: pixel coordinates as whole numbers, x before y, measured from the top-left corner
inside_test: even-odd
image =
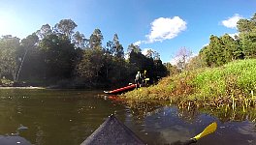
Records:
[[[100,29],[86,39],[74,32],[76,27],[73,20],[62,19],[54,27],[43,25],[21,41],[12,35],[2,36],[0,78],[30,85],[86,87],[124,85],[144,70],[151,82],[168,74],[156,51],[144,55],[131,43],[125,54],[117,34],[103,44]]]

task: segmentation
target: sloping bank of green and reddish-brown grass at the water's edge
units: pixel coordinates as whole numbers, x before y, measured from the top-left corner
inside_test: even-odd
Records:
[[[123,97],[168,100],[182,107],[255,107],[256,59],[165,77],[157,85],[128,92]]]

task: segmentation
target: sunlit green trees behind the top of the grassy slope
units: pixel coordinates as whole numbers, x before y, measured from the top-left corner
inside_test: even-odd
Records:
[[[210,36],[198,56],[205,65],[218,67],[233,60],[256,58],[256,14],[251,19],[240,19],[237,27],[240,33],[234,38],[228,34]]]

